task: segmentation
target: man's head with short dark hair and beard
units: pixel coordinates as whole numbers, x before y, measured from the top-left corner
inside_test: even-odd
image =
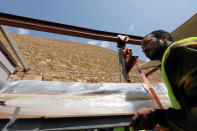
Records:
[[[167,47],[174,42],[171,34],[156,30],[146,35],[142,41],[142,51],[151,60],[161,60]]]

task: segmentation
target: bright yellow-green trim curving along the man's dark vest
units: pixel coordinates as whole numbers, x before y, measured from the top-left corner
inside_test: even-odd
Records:
[[[170,98],[170,102],[172,104],[172,107],[175,108],[175,109],[180,109],[180,105],[178,103],[178,101],[176,100],[175,96],[174,96],[174,93],[172,91],[172,87],[170,85],[170,82],[166,76],[166,73],[165,73],[165,69],[164,69],[164,62],[165,62],[165,58],[168,54],[168,52],[170,51],[170,47],[174,46],[175,44],[180,44],[180,43],[183,43],[183,42],[187,42],[187,41],[191,41],[191,40],[197,40],[197,37],[190,37],[190,38],[186,38],[186,39],[183,39],[183,40],[179,40],[179,41],[176,41],[174,42],[173,44],[171,44],[167,50],[165,51],[164,55],[163,55],[163,58],[162,58],[162,63],[161,63],[161,73],[162,73],[162,77],[163,77],[163,80],[166,84],[166,87],[168,89],[168,96]]]

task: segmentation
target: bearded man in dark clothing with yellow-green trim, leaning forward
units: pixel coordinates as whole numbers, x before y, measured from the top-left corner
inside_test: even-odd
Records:
[[[144,37],[142,51],[161,60],[161,71],[172,108],[139,109],[131,119],[135,130],[156,124],[173,131],[197,130],[197,37],[174,42],[171,34],[156,30]]]

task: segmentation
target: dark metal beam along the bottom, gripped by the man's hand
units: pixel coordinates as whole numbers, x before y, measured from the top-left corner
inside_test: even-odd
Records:
[[[117,116],[91,116],[91,117],[68,117],[68,118],[26,118],[17,119],[9,130],[36,130],[36,131],[59,131],[99,129],[113,127],[128,127],[133,115]],[[4,128],[9,119],[0,119],[0,129]]]

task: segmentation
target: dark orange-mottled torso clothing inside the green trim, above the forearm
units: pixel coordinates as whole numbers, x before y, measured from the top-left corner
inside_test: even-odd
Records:
[[[197,106],[197,42],[171,47],[164,67],[181,107],[190,110]]]

